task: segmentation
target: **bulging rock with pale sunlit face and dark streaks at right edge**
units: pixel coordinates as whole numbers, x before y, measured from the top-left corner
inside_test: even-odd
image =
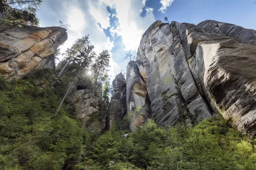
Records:
[[[200,42],[195,72],[205,96],[242,132],[256,129],[256,46],[236,40]]]

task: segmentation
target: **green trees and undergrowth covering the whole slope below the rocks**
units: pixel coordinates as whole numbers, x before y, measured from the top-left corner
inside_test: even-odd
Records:
[[[159,127],[148,119],[133,133],[123,119],[101,135],[81,130],[65,104],[52,118],[62,95],[53,88],[55,81],[47,69],[13,82],[0,78],[0,169],[256,169],[256,140],[221,116],[194,127]],[[103,96],[108,94],[106,84]],[[132,115],[140,111],[138,107]]]

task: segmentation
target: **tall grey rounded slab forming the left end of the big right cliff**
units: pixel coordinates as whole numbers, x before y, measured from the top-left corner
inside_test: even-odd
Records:
[[[146,70],[152,117],[163,126],[175,125],[181,120],[181,114],[188,112],[175,79],[175,57],[169,49],[172,42],[169,24],[157,21],[143,35],[137,54],[140,72]],[[145,62],[147,60],[149,62]],[[148,69],[143,68],[142,61],[147,64],[144,68]],[[184,121],[190,123],[188,116],[185,117]]]

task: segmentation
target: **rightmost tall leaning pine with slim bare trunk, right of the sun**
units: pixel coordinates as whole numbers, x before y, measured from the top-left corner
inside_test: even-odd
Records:
[[[95,73],[97,73],[97,77],[95,79],[93,89],[92,89],[92,93],[91,93],[91,96],[90,96],[90,100],[89,100],[88,105],[87,105],[87,110],[86,110],[86,113],[85,113],[85,116],[84,116],[84,119],[83,119],[82,129],[84,129],[84,127],[85,127],[85,121],[86,121],[86,118],[87,118],[87,115],[88,115],[88,112],[89,112],[91,99],[92,99],[93,94],[94,94],[93,91],[96,87],[98,77],[99,77],[99,73],[101,71],[106,70],[109,67],[109,59],[110,59],[110,54],[108,53],[108,50],[103,50],[98,55],[98,57],[96,58],[96,62],[93,65],[93,70],[94,70]]]

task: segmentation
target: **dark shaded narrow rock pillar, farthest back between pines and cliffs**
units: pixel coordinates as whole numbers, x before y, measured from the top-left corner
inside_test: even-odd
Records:
[[[107,129],[116,120],[122,120],[126,113],[126,80],[122,73],[116,75],[112,82],[113,94],[108,107]]]

